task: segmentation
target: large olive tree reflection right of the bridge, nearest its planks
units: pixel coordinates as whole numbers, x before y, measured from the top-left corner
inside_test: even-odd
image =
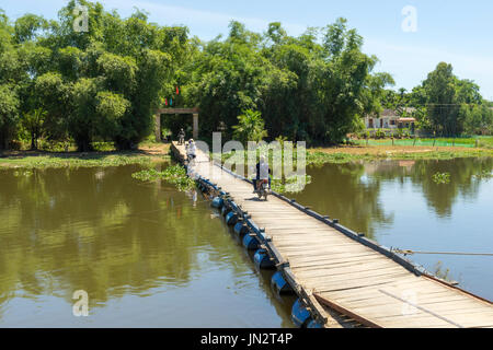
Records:
[[[375,222],[392,223],[393,217],[386,214],[379,202],[380,183],[365,176],[364,164],[325,164],[309,168],[308,174],[312,183],[294,196],[300,203],[337,218],[343,225],[370,237]]]

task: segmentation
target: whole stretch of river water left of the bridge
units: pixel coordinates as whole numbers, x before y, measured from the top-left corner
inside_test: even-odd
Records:
[[[137,171],[0,171],[0,327],[291,327],[202,195]]]

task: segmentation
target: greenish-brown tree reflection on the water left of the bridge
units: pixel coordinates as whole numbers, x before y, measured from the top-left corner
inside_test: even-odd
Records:
[[[0,172],[0,304],[19,290],[70,300],[83,289],[100,303],[181,285],[204,268],[194,247],[226,249],[230,240],[207,207],[165,184],[140,184],[135,171]]]

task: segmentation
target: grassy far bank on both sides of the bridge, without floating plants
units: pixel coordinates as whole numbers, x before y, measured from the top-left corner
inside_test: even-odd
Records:
[[[450,160],[493,156],[493,149],[460,147],[339,145],[308,149],[307,165],[379,160]],[[225,159],[228,159],[226,156]],[[93,167],[152,164],[169,161],[169,143],[141,143],[136,151],[95,152],[10,151],[0,153],[2,168]]]

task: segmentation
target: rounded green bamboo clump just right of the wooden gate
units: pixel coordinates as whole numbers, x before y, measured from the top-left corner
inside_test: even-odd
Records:
[[[259,35],[231,22],[228,38],[207,43],[188,66],[194,70],[188,103],[200,108],[203,135],[216,131],[220,121],[231,128],[242,110],[257,109],[268,68],[259,44]]]

